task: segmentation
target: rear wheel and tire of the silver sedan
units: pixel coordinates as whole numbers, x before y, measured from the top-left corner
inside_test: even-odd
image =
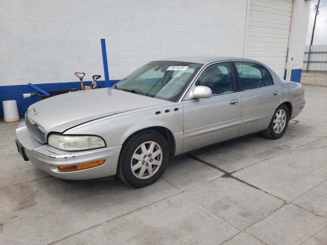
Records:
[[[273,117],[271,118],[268,128],[262,132],[262,135],[270,139],[279,139],[281,138],[289,122],[289,109],[285,104],[280,105],[274,112]]]

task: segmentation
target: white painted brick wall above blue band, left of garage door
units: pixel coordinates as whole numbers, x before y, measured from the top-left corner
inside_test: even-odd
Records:
[[[243,56],[247,0],[0,0],[0,86],[110,79],[162,57]]]

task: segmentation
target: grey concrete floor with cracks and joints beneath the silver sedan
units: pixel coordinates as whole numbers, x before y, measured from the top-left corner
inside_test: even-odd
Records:
[[[65,183],[0,124],[0,244],[327,244],[327,88],[278,140],[260,135],[172,161],[155,184]]]

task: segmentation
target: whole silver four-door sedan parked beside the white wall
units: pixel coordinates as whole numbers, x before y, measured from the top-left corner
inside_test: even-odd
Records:
[[[33,104],[16,129],[16,143],[25,160],[52,176],[117,175],[143,187],[176,155],[254,132],[282,137],[305,106],[304,94],[301,84],[282,82],[255,60],[157,60],[112,88]]]

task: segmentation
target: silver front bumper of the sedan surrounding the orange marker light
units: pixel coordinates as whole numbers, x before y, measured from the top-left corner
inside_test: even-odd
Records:
[[[116,174],[121,145],[90,151],[67,152],[58,150],[48,144],[41,144],[29,133],[25,122],[16,129],[17,140],[24,146],[28,159],[49,175],[67,180],[96,179]],[[105,163],[77,171],[60,171],[58,166],[76,165],[105,159]]]

